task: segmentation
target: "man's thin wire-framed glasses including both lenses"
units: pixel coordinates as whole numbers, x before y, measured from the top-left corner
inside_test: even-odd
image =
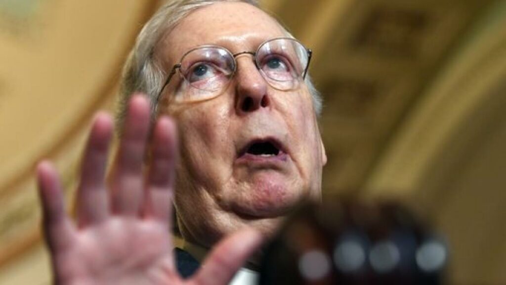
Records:
[[[163,84],[165,86],[179,69],[183,79],[171,101],[195,102],[219,96],[228,86],[237,70],[235,58],[251,54],[263,78],[275,89],[293,90],[304,81],[312,51],[292,38],[275,38],[263,42],[256,52],[232,54],[219,46],[201,46],[185,53],[179,64],[174,65]]]

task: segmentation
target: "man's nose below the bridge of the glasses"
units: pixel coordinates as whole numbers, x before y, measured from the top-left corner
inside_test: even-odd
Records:
[[[257,111],[270,106],[267,82],[248,54],[236,57],[236,110],[239,114]]]

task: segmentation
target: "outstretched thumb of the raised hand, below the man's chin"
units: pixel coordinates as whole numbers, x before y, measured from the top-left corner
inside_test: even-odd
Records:
[[[192,284],[228,284],[251,254],[260,248],[262,242],[260,232],[250,228],[225,238],[206,258]]]

